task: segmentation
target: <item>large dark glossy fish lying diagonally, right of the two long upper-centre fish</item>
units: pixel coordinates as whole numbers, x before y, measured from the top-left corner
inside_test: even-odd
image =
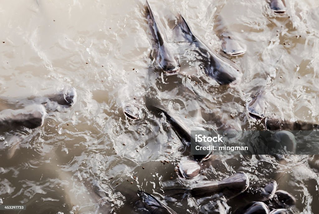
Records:
[[[180,29],[183,36],[190,43],[194,43],[199,51],[198,55],[202,57],[204,72],[206,75],[216,80],[220,85],[230,84],[241,78],[241,68],[233,61],[215,54],[210,48],[200,41],[190,30],[188,24],[182,15],[178,16],[178,24],[174,29]],[[176,30],[175,30],[176,31]]]

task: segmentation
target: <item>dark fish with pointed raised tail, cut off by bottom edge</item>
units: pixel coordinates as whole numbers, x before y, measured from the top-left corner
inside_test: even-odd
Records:
[[[174,210],[160,203],[154,196],[138,190],[137,195],[141,200],[135,203],[137,211],[141,214],[177,214]]]

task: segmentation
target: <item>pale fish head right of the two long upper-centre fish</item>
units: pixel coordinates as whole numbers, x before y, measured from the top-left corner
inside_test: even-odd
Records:
[[[224,36],[221,44],[222,50],[230,56],[240,56],[246,53],[247,47],[241,44],[239,40],[231,37]]]

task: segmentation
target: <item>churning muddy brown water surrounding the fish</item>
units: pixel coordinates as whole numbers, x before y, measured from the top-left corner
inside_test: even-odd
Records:
[[[94,213],[97,187],[108,201],[100,213],[131,213],[124,195],[142,189],[163,199],[163,189],[181,186],[174,172],[185,156],[181,142],[162,115],[147,110],[145,96],[156,97],[190,126],[217,128],[219,115],[223,123],[258,129],[245,105],[263,89],[268,114],[318,122],[317,3],[287,0],[286,15],[275,15],[266,1],[150,5],[168,41],[173,42],[171,29],[181,12],[194,34],[216,51],[221,42],[214,34],[214,17],[220,14],[247,45],[245,55],[231,58],[242,68],[241,81],[219,86],[198,70],[191,54],[182,55],[181,74],[154,73],[144,1],[1,3],[1,96],[41,95],[63,85],[78,93],[69,110],[48,112],[43,127],[1,133],[1,203],[25,204],[19,213]],[[125,118],[126,102],[140,106],[140,120]],[[197,109],[204,121],[195,119]],[[319,178],[308,166],[310,158],[290,156],[282,164],[268,156],[220,156],[214,157],[217,163],[206,162],[203,173],[211,180],[238,171],[248,172],[251,182],[275,179],[279,189],[296,197],[299,212],[318,213]],[[233,209],[237,200],[230,202]],[[166,203],[178,213],[200,210],[191,198]]]

